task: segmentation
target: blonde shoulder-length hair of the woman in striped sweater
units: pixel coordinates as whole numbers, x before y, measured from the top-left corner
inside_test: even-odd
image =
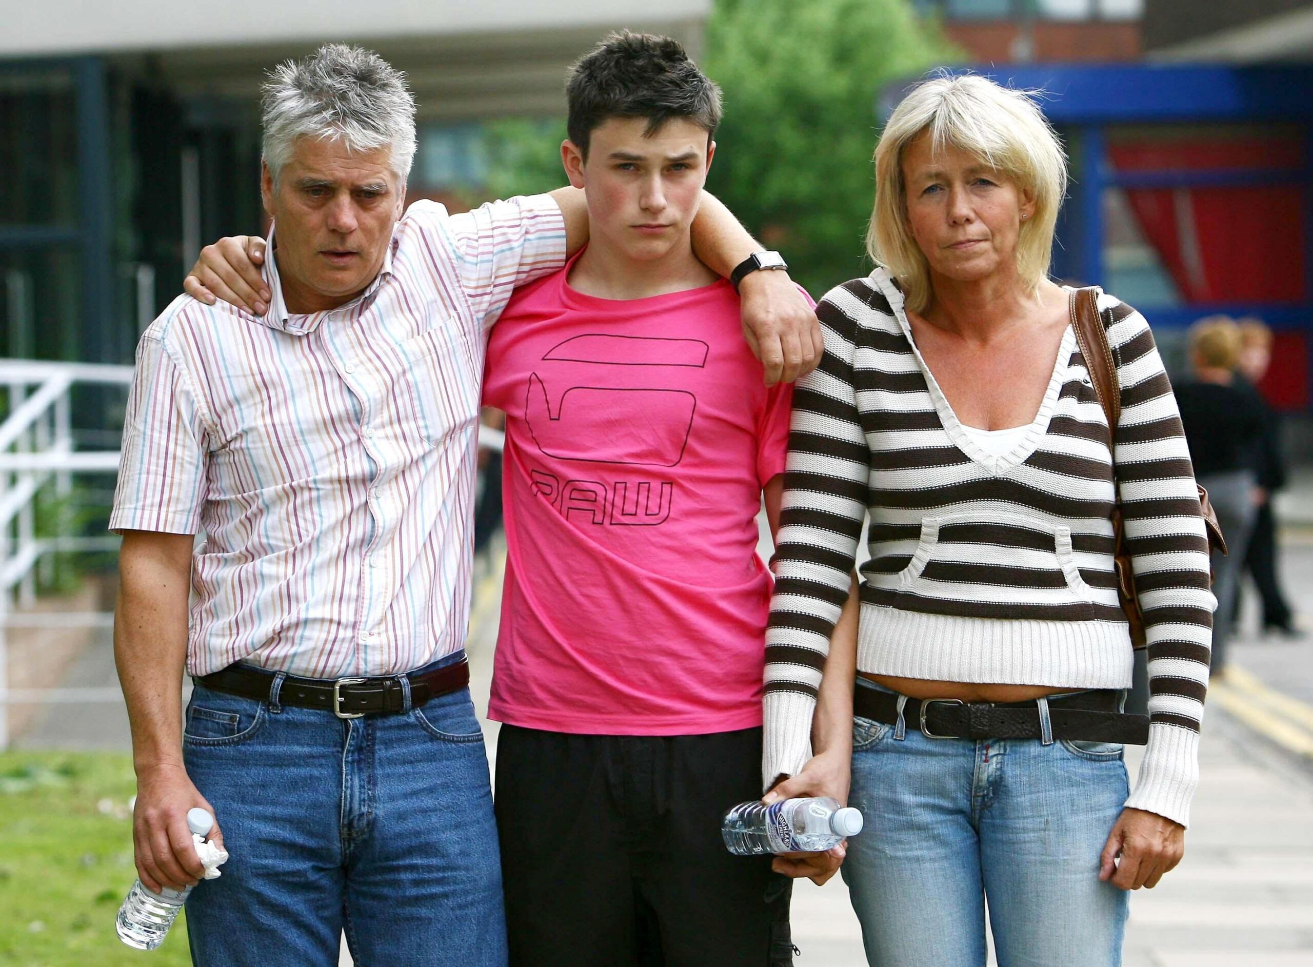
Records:
[[[968,151],[1032,193],[1035,213],[1022,222],[1016,267],[1029,292],[1048,276],[1067,171],[1062,145],[1033,97],[989,78],[944,74],[916,84],[889,117],[876,146],[867,252],[898,280],[913,311],[930,302],[930,265],[907,225],[902,155],[926,131],[935,151],[947,145]]]

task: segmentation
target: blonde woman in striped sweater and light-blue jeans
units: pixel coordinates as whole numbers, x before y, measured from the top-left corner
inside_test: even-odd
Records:
[[[865,813],[843,874],[871,963],[983,964],[987,901],[1003,967],[1116,964],[1125,891],[1179,862],[1197,780],[1213,599],[1176,405],[1148,323],[1103,293],[1107,424],[1048,279],[1066,171],[1031,99],[918,85],[876,179],[878,268],[821,304],[794,395],[764,779]],[[1152,723],[1121,715],[1119,501]],[[831,648],[867,520],[857,632]],[[1123,742],[1146,738],[1129,792]]]

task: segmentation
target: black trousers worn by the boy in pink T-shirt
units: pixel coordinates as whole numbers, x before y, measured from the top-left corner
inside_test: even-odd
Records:
[[[495,811],[512,967],[788,967],[792,880],[731,855],[762,729],[576,736],[503,725]]]

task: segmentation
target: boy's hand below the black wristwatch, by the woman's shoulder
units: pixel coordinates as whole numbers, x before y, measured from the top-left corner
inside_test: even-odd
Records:
[[[750,272],[739,282],[743,336],[765,367],[765,385],[793,382],[821,363],[825,342],[806,296],[785,272]]]

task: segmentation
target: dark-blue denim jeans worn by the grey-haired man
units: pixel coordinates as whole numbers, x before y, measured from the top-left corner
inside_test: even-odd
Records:
[[[200,967],[335,967],[344,929],[361,967],[506,964],[469,688],[341,720],[197,686],[183,753],[231,854],[186,901]]]

